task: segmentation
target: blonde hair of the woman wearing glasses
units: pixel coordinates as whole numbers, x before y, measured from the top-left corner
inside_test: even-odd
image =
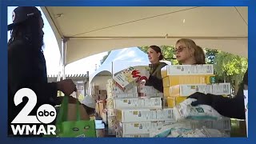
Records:
[[[186,45],[186,47],[191,50],[194,49],[194,59],[196,64],[206,64],[206,54],[202,50],[202,47],[197,46],[192,39],[189,38],[181,38],[176,42],[176,45],[182,42]]]

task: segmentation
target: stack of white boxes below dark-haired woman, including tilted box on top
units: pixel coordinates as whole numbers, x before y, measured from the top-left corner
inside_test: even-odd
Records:
[[[149,137],[150,129],[174,122],[172,109],[162,109],[163,94],[152,86],[139,84],[142,78],[149,78],[149,70],[148,66],[130,67],[108,81],[106,119],[109,134]]]

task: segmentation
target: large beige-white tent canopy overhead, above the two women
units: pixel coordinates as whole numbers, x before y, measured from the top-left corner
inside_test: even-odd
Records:
[[[178,38],[192,38],[199,46],[247,58],[247,7],[41,8],[54,30],[65,66],[124,47],[174,45]]]

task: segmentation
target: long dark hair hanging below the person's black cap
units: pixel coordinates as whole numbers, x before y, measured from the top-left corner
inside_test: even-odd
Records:
[[[25,22],[14,26],[13,30],[11,30],[8,44],[17,39],[26,39],[30,44],[41,49],[43,46],[43,32],[39,24],[40,18],[41,17],[29,18]]]

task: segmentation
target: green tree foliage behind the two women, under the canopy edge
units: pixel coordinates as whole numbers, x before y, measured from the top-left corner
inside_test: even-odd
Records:
[[[147,53],[149,46],[138,47],[143,52]],[[160,46],[162,55],[166,61],[170,61],[173,65],[177,65],[178,61],[174,59],[174,46]],[[230,82],[232,87],[242,82],[243,75],[245,74],[248,66],[247,58],[239,57],[238,55],[229,54],[220,50],[212,50],[205,48],[206,63],[214,64],[214,73],[216,74],[217,82]],[[106,60],[107,56],[102,58],[102,63]]]

